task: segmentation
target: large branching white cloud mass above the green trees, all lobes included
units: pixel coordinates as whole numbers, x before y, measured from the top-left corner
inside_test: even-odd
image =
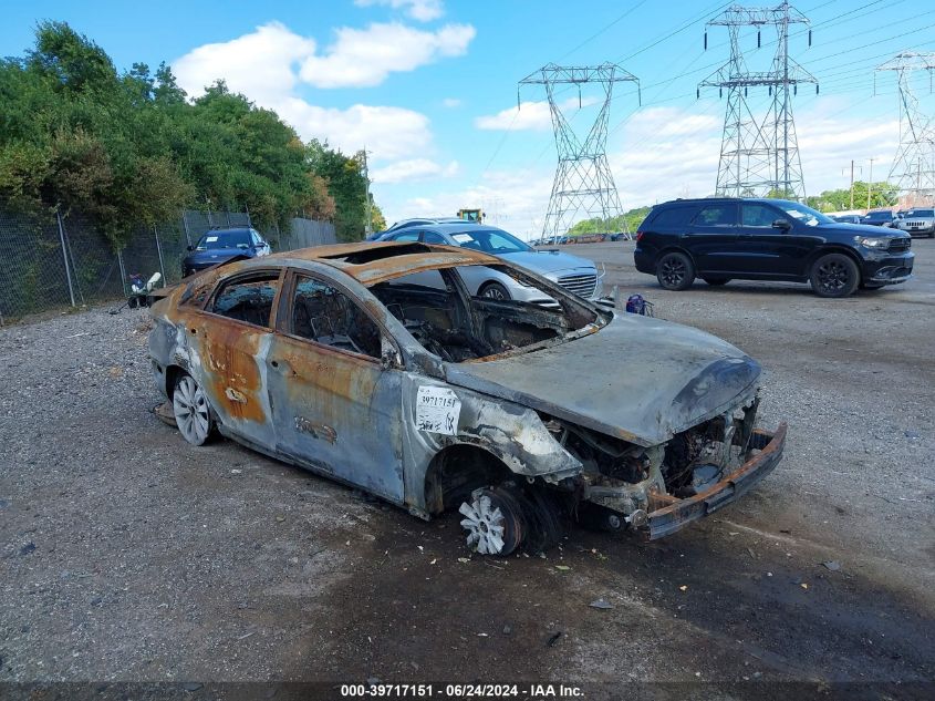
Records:
[[[351,153],[367,147],[375,159],[432,150],[424,114],[394,106],[354,104],[321,107],[299,95],[303,84],[318,87],[376,85],[393,71],[412,71],[440,56],[464,53],[474,38],[469,25],[449,24],[424,32],[403,24],[340,29],[325,53],[316,42],[281,22],[270,22],[228,42],[194,49],[173,64],[178,83],[191,95],[224,79],[231,91],[274,110],[304,140],[326,138]]]

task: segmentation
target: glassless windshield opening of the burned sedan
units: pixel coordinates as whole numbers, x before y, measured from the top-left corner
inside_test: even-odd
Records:
[[[509,298],[489,296],[492,285]],[[423,348],[448,362],[528,352],[604,322],[583,305],[501,266],[426,270],[370,289]]]

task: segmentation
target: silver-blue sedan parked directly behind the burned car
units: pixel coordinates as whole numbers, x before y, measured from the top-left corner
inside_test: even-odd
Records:
[[[503,229],[484,224],[436,224],[412,226],[404,230],[387,231],[382,241],[420,241],[459,246],[471,250],[506,258],[533,272],[558,282],[567,290],[589,299],[602,295],[601,277],[594,264],[569,254],[536,250]],[[553,305],[554,300],[543,297],[539,290],[518,285],[510,276],[497,275],[490,268],[465,271],[465,280],[471,295],[494,299],[518,299],[537,305]]]

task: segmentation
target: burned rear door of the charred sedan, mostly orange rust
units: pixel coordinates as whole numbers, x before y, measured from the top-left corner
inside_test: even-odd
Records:
[[[272,447],[274,440],[261,364],[273,336],[281,277],[281,269],[229,277],[211,296],[207,313],[193,313],[185,323],[188,342],[200,359],[190,370],[220,423],[266,447]]]

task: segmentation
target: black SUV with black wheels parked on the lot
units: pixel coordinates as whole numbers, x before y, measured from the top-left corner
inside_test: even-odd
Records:
[[[640,225],[640,272],[667,290],[695,277],[708,285],[744,280],[811,281],[820,297],[846,297],[912,277],[912,239],[902,231],[840,224],[786,199],[675,199]]]

